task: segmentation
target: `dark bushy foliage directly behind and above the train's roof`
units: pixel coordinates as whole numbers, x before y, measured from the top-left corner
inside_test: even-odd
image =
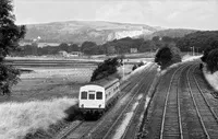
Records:
[[[99,63],[98,67],[94,70],[90,81],[96,81],[113,74],[117,72],[117,67],[120,66],[118,58],[109,58],[102,63]]]

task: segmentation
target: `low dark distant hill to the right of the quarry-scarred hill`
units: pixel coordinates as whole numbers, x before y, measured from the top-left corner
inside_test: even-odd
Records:
[[[169,37],[183,37],[187,34],[195,33],[197,30],[185,30],[185,28],[168,28],[162,31],[157,31],[143,37],[146,39],[152,39],[154,36],[169,36]]]

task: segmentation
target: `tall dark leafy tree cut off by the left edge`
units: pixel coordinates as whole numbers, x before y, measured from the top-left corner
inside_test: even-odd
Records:
[[[24,38],[25,26],[14,24],[11,0],[0,2],[0,92],[10,94],[10,89],[17,83],[20,71],[12,66],[7,66],[4,59],[17,49],[19,40]]]

